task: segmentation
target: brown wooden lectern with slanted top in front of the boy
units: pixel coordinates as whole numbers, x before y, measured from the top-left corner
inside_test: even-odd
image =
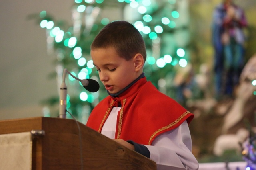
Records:
[[[2,120],[0,134],[44,131],[43,136],[33,137],[33,170],[80,170],[82,164],[84,170],[156,170],[154,161],[82,123],[78,125],[81,140],[73,119],[50,117]]]

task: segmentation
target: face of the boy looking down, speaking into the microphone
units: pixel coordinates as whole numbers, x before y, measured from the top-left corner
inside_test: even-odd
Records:
[[[124,89],[140,74],[136,69],[135,57],[126,61],[112,47],[91,50],[91,57],[100,81],[112,94]]]

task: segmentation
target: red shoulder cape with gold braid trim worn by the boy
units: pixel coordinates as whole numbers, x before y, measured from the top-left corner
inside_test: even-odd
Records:
[[[185,120],[190,123],[194,117],[175,100],[159,92],[146,78],[138,80],[119,95],[119,99],[122,108],[118,112],[116,139],[150,145],[161,133],[175,129]],[[101,132],[116,103],[116,98],[104,98],[93,109],[86,125]]]

